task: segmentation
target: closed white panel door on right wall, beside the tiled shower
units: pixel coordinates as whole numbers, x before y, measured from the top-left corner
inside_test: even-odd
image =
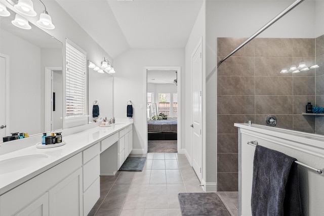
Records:
[[[192,167],[196,172],[196,175],[200,182],[203,177],[201,171],[201,166],[203,164],[203,139],[201,136],[201,128],[203,121],[203,114],[201,113],[203,62],[201,58],[201,53],[201,42],[199,42],[196,50],[191,55],[192,124],[190,126],[192,127]]]

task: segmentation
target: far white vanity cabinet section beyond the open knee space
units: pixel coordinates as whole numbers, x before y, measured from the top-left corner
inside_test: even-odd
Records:
[[[118,169],[125,162],[133,150],[133,125],[129,125],[119,132]]]

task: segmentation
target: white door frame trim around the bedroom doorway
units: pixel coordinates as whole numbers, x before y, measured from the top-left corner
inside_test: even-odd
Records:
[[[147,71],[148,70],[176,70],[177,71],[177,94],[178,94],[178,124],[177,124],[177,151],[181,153],[181,67],[180,66],[150,66],[144,67],[144,152],[148,151],[147,135]]]

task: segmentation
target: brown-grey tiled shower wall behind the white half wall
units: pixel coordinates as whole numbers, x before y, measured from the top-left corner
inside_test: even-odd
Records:
[[[247,38],[217,38],[219,62]],[[319,65],[300,73],[280,73],[306,62]],[[324,134],[324,116],[302,115],[307,102],[324,107],[324,35],[317,38],[255,38],[217,70],[217,190],[237,191],[238,147],[234,122],[265,124]],[[316,101],[315,101],[316,99]],[[316,123],[315,123],[316,122]]]

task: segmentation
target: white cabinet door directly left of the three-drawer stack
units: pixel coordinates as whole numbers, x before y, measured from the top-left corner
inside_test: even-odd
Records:
[[[83,215],[82,168],[49,191],[50,215]]]

